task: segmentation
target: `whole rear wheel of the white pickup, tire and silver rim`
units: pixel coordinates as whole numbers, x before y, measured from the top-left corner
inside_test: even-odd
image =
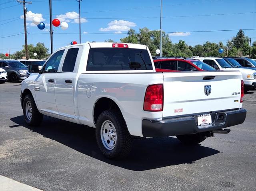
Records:
[[[103,111],[96,123],[96,140],[100,151],[107,158],[125,158],[131,150],[130,136],[124,118],[119,112]]]

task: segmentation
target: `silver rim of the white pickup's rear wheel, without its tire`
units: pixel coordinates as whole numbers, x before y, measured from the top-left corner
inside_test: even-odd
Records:
[[[116,146],[116,128],[110,120],[102,123],[100,128],[100,137],[102,144],[107,150],[113,150]]]

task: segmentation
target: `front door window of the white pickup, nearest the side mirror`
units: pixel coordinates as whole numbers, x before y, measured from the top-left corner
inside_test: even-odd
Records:
[[[58,67],[60,65],[60,61],[63,53],[64,53],[64,50],[60,50],[54,53],[52,57],[50,57],[50,59],[45,64],[44,73],[54,73],[58,71]]]

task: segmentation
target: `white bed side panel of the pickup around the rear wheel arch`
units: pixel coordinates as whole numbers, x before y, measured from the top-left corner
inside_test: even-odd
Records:
[[[95,127],[94,104],[100,98],[110,98],[120,108],[130,134],[142,136],[142,119],[162,118],[162,112],[143,110],[146,88],[158,83],[163,83],[162,73],[81,74],[77,90],[79,120],[82,124]]]

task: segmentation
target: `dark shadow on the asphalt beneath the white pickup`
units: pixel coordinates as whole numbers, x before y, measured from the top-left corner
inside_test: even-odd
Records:
[[[144,171],[170,165],[190,164],[196,160],[218,154],[218,150],[197,146],[185,146],[176,138],[150,138],[134,140],[132,151],[128,158],[110,160],[105,158],[98,149],[95,139],[95,129],[87,126],[66,122],[44,116],[40,127],[30,127],[23,116],[11,118],[18,125],[37,132],[45,138],[50,138],[90,157],[134,171]]]

